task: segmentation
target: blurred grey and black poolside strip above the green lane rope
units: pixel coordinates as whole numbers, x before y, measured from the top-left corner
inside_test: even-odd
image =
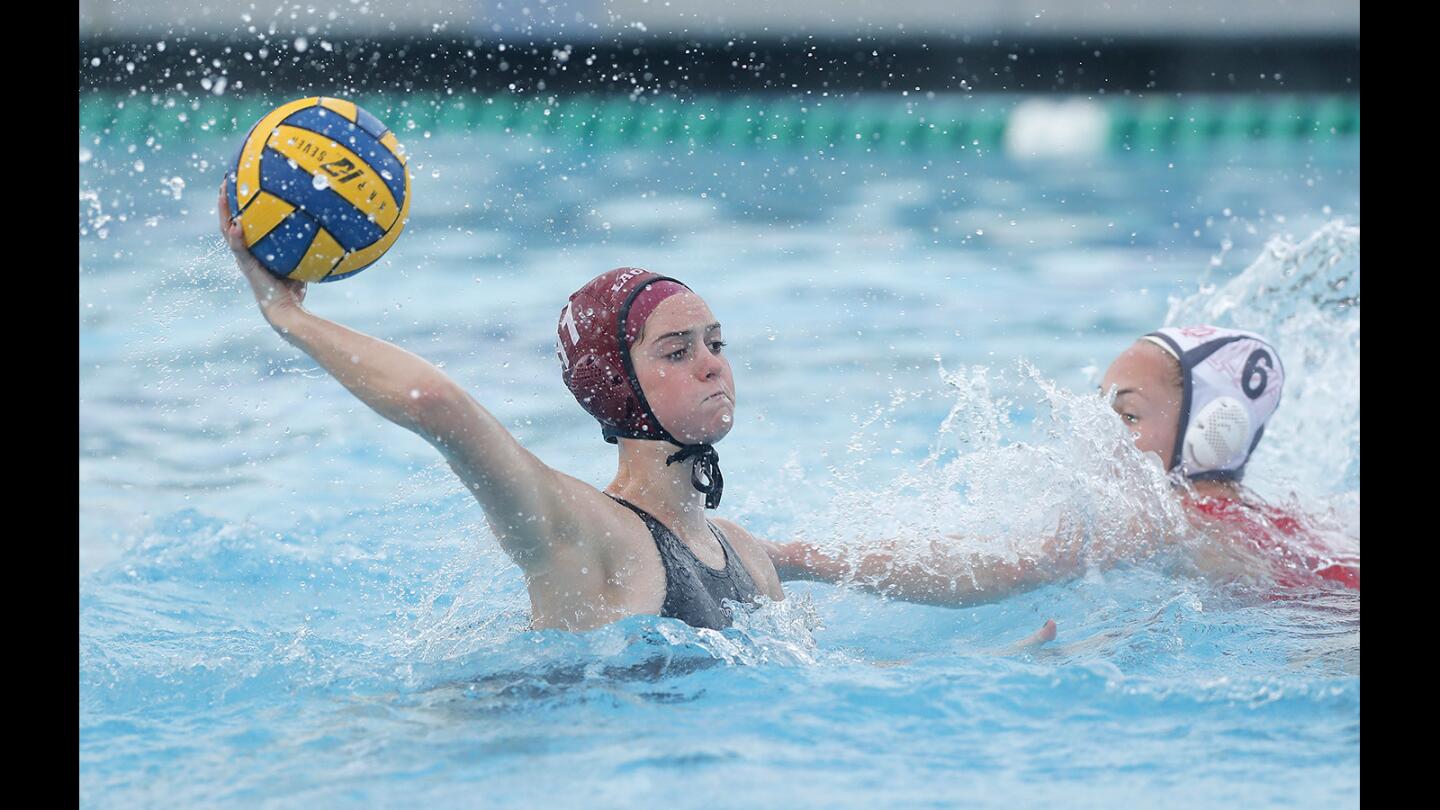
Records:
[[[1359,6],[82,0],[79,62],[82,91],[1358,94]]]

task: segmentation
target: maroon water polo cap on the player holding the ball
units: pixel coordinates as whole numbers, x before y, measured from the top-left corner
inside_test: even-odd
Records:
[[[649,409],[629,349],[655,307],[685,290],[658,272],[621,267],[592,278],[560,310],[560,376],[599,419],[605,441],[615,444],[616,437],[625,437],[680,444]]]

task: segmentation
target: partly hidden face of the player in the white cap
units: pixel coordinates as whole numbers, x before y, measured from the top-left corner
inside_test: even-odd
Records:
[[[1179,365],[1148,340],[1136,342],[1110,363],[1100,380],[1100,393],[1115,395],[1115,412],[1135,435],[1135,447],[1155,453],[1165,468],[1175,455],[1182,396]]]

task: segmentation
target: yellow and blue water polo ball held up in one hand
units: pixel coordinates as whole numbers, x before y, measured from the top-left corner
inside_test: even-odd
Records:
[[[410,213],[410,173],[395,133],[340,98],[301,98],[261,118],[226,192],[255,258],[300,281],[338,281],[370,267]]]

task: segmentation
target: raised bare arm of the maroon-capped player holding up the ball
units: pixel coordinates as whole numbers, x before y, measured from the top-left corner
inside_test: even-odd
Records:
[[[305,284],[276,278],[245,246],[220,187],[220,231],[265,320],[361,402],[435,445],[485,509],[505,552],[527,572],[544,564],[560,476],[444,372],[399,346],[302,307]]]

